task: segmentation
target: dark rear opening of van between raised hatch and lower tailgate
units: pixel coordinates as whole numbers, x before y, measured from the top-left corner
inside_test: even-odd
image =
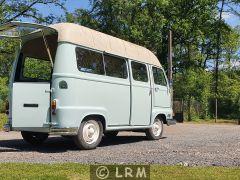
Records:
[[[57,35],[46,36],[52,59],[57,49]],[[26,42],[19,54],[16,82],[49,82],[52,76],[52,65],[44,44],[43,37]]]

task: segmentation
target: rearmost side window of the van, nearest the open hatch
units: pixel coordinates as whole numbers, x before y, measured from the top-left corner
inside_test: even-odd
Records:
[[[103,57],[101,53],[76,47],[76,56],[79,71],[104,74]]]

